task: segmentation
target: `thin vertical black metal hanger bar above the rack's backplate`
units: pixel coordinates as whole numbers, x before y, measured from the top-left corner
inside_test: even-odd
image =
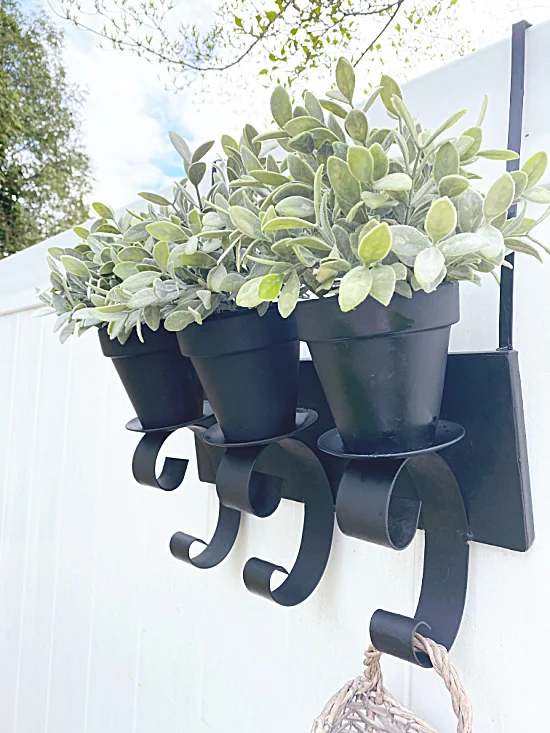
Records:
[[[531,24],[526,20],[514,23],[512,26],[512,59],[510,75],[510,113],[508,122],[508,148],[521,152],[521,138],[523,125],[523,93],[525,89],[525,35]],[[519,158],[509,160],[507,171],[519,169]],[[516,207],[512,207],[509,217],[516,215]],[[506,258],[512,267],[514,253]],[[499,349],[512,349],[512,335],[514,326],[514,270],[503,267],[500,276],[500,308],[498,324]]]

